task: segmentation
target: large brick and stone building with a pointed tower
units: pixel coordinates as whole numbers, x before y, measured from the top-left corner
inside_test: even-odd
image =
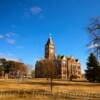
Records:
[[[45,45],[44,59],[36,62],[35,77],[46,78],[48,77],[47,62],[52,60],[54,62],[54,78],[70,80],[71,78],[81,78],[81,65],[78,59],[66,56],[55,56],[55,45],[50,36]]]

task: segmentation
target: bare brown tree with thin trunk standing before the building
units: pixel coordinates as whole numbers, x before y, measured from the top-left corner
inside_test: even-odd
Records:
[[[50,90],[53,90],[53,79],[59,76],[59,65],[53,59],[45,59],[37,61],[35,66],[35,77],[36,78],[48,78],[50,80]]]

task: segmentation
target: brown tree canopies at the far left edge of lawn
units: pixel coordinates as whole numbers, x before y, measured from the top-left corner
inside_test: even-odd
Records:
[[[0,77],[8,74],[9,78],[20,78],[27,75],[27,70],[27,65],[22,62],[0,58]]]

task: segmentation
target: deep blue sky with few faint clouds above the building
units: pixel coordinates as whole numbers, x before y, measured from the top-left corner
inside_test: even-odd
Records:
[[[56,54],[78,58],[84,70],[86,27],[99,15],[100,0],[0,0],[0,56],[34,65],[51,33]]]

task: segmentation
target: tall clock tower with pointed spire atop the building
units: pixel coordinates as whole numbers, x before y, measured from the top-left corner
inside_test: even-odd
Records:
[[[45,44],[45,58],[46,59],[55,58],[55,46],[51,36],[49,36],[48,41]]]

